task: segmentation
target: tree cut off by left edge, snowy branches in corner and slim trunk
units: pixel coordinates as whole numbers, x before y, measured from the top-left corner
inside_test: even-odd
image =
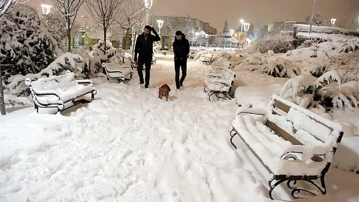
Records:
[[[2,21],[4,16],[12,12],[17,4],[25,4],[27,2],[19,3],[18,0],[0,0],[0,21]],[[6,115],[2,71],[3,70],[0,65],[0,111],[1,114]]]

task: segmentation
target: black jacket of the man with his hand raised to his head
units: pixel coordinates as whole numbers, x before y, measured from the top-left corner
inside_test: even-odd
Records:
[[[155,35],[152,35],[150,33],[147,36],[147,41],[145,38],[145,34],[142,33],[142,34],[138,35],[137,40],[136,40],[135,50],[134,50],[135,57],[137,57],[137,54],[139,54],[139,57],[152,55],[153,43],[159,42],[161,39],[155,30],[153,30],[153,33]]]

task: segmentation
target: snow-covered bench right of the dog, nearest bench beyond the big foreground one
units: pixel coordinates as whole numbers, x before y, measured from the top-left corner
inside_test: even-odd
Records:
[[[209,74],[204,80],[203,90],[208,93],[210,100],[212,95],[217,97],[217,100],[231,100],[234,96],[232,87],[236,74],[231,69],[224,69],[221,74]]]

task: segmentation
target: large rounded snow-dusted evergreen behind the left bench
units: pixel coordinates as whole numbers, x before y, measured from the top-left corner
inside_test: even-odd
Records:
[[[56,40],[39,19],[38,12],[18,5],[1,24],[0,65],[7,78],[39,73],[56,59]]]

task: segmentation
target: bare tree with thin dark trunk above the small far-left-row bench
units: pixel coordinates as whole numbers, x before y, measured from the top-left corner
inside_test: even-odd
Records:
[[[103,30],[104,49],[106,54],[106,32],[118,17],[119,9],[124,0],[87,0],[86,10],[95,23]]]

